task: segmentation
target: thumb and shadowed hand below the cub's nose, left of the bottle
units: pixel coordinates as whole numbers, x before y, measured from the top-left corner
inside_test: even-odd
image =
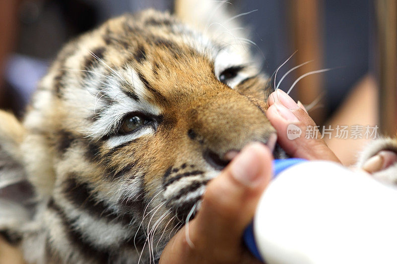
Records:
[[[270,180],[271,160],[271,153],[263,144],[245,147],[208,184],[201,208],[189,223],[189,237],[194,247],[188,245],[185,232],[180,231],[163,255],[171,252],[178,254],[178,259],[197,259],[198,263],[241,263],[241,256],[247,256],[241,244],[242,234]],[[162,256],[163,263],[167,263],[165,257]],[[249,258],[254,261],[254,257]]]

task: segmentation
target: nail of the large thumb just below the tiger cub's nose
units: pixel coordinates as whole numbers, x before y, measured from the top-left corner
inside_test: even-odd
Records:
[[[233,177],[245,186],[255,186],[259,177],[260,164],[256,158],[260,143],[253,143],[244,147],[240,154],[232,161],[231,173]]]

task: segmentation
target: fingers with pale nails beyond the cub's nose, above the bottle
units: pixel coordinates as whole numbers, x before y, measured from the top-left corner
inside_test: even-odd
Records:
[[[277,90],[268,102],[266,116],[277,131],[278,143],[289,155],[340,162],[321,138],[316,123],[292,98]]]

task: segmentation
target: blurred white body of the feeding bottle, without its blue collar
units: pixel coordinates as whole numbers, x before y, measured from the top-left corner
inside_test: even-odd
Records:
[[[289,167],[254,218],[266,264],[397,264],[397,190],[329,161]]]

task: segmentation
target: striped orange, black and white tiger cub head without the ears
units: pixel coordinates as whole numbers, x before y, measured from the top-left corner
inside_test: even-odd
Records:
[[[67,44],[21,147],[46,201],[46,258],[153,260],[231,153],[274,134],[265,95],[241,43],[168,14],[124,15]]]

